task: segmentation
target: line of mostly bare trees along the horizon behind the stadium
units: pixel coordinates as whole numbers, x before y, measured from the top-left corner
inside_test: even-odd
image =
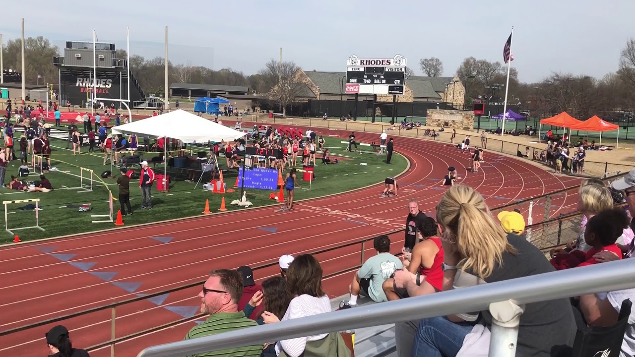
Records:
[[[4,68],[20,69],[20,39],[9,40],[3,48]],[[58,46],[43,36],[25,39],[25,81],[35,84],[58,84],[57,68],[52,63],[54,55],[61,55]],[[126,58],[125,50],[117,50],[117,58]],[[531,116],[551,116],[567,111],[575,118],[587,119],[594,114],[615,111],[629,112],[634,107],[631,95],[635,90],[635,39],[629,39],[620,53],[619,70],[602,78],[570,73],[551,73],[542,81],[522,83],[518,71],[511,67],[508,104],[519,105],[530,111]],[[513,62],[512,62],[513,64]],[[419,60],[419,69],[425,76],[443,76],[443,62],[436,57]],[[163,96],[164,58],[130,57],[130,68],[144,91]],[[281,107],[293,102],[301,86],[293,76],[300,67],[293,61],[280,64],[269,60],[255,74],[244,74],[231,68],[215,71],[204,66],[173,64],[168,61],[168,83],[218,84],[246,86],[253,93],[269,93],[271,100]],[[455,74],[466,88],[465,109],[475,98],[486,103],[502,103],[505,97],[507,66],[500,62],[467,57]],[[37,76],[44,79],[36,79]],[[414,72],[408,69],[408,76]],[[40,78],[41,78],[40,77]]]

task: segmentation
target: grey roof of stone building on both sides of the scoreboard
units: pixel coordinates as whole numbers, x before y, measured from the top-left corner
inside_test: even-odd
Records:
[[[320,93],[345,93],[346,72],[304,71],[304,73],[319,87]],[[453,78],[412,76],[406,79],[406,85],[412,90],[415,98],[441,98],[439,93],[445,92],[446,86]]]

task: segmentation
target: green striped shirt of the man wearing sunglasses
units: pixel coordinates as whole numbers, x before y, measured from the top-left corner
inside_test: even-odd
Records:
[[[211,315],[210,318],[208,318],[204,323],[201,323],[201,325],[193,327],[192,330],[187,333],[185,339],[196,339],[196,337],[215,335],[217,333],[240,330],[241,328],[253,326],[258,326],[258,323],[244,316],[243,311],[238,311],[237,313],[217,313]],[[257,357],[260,356],[260,353],[262,353],[262,347],[262,344],[243,346],[231,349],[224,349],[222,351],[199,353],[193,355],[192,357]]]

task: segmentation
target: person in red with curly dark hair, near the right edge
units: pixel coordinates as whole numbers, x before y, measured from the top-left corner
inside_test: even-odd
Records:
[[[584,229],[584,241],[591,246],[591,249],[587,252],[572,250],[570,253],[560,253],[550,260],[551,265],[558,270],[590,266],[598,262],[594,255],[604,250],[615,253],[621,259],[622,250],[615,241],[622,236],[624,229],[628,226],[629,217],[620,208],[611,208],[594,215]]]

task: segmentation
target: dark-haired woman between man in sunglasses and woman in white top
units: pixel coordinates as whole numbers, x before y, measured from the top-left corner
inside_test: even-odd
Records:
[[[262,291],[253,294],[249,303],[244,307],[244,316],[250,316],[260,306],[260,313],[257,314],[256,322],[258,325],[265,323],[262,318],[262,311],[269,311],[281,320],[286,313],[289,303],[293,299],[289,292],[289,286],[286,279],[282,276],[274,276],[262,282]]]

